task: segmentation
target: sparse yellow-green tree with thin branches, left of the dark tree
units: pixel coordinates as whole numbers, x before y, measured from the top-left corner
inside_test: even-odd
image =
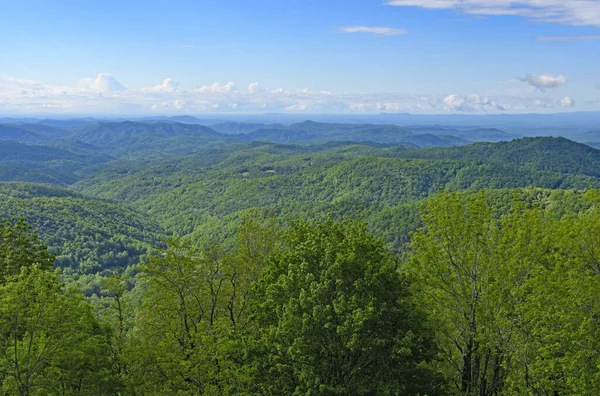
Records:
[[[142,267],[144,303],[132,333],[132,386],[145,394],[239,394],[247,382],[240,335],[252,287],[277,229],[247,219],[232,253],[171,242]]]

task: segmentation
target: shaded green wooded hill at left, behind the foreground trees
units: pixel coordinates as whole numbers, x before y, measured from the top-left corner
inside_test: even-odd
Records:
[[[122,270],[164,246],[158,223],[121,204],[50,186],[0,183],[0,218],[18,217],[57,254],[58,267],[82,274]]]

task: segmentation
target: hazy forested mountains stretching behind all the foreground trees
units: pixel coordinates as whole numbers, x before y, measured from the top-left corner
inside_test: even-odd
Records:
[[[415,226],[403,216],[412,219],[411,205],[440,188],[600,187],[596,147],[600,113],[3,118],[0,213],[30,219],[65,266],[80,259],[47,225],[68,212],[65,230],[77,229],[82,205],[85,216],[125,214],[155,241],[173,232],[225,238],[251,210],[284,219],[368,213],[400,248]],[[383,227],[390,213],[396,225]],[[89,273],[121,260],[102,250],[98,232],[88,232]],[[125,238],[115,252],[138,262],[142,239]]]

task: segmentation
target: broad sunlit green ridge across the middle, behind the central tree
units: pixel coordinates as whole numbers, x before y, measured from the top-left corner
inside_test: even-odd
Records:
[[[440,158],[444,150],[438,149]],[[400,158],[419,152],[360,144],[254,142],[162,165],[107,169],[73,188],[126,202],[159,219],[169,232],[196,239],[230,238],[240,218],[254,210],[277,214],[284,222],[327,214],[363,217],[378,228],[381,213],[394,218],[390,213],[397,209],[403,214],[386,231],[393,242],[407,239],[403,222],[414,216],[414,204],[441,188],[600,187],[595,177],[535,170],[508,160]],[[530,152],[532,158],[537,155]]]

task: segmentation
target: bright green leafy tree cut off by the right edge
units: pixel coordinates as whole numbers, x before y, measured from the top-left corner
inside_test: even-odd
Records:
[[[514,393],[600,393],[600,212],[554,220],[526,283]],[[541,238],[538,238],[540,240]],[[538,245],[540,245],[538,243]],[[517,363],[517,362],[515,362]]]

